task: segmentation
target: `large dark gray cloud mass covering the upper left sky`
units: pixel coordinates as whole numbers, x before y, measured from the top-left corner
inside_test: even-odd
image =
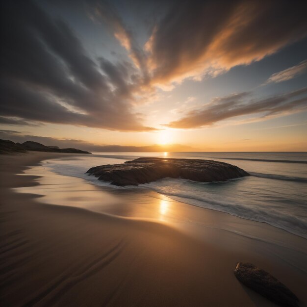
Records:
[[[1,8],[2,119],[151,130],[132,113],[130,72],[119,69],[125,64],[111,76],[115,65],[100,67],[66,23],[33,1],[6,1]]]

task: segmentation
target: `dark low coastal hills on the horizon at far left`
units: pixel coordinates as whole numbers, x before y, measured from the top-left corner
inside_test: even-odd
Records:
[[[24,143],[14,143],[9,140],[0,139],[0,153],[26,153],[26,151],[46,152],[46,153],[88,153],[75,148],[60,149],[57,146],[45,146],[41,143],[26,141]]]

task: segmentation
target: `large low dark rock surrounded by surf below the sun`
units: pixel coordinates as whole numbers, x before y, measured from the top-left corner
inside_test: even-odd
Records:
[[[228,163],[166,158],[138,158],[123,164],[92,167],[86,173],[120,186],[138,185],[167,177],[211,182],[249,176],[244,170]]]

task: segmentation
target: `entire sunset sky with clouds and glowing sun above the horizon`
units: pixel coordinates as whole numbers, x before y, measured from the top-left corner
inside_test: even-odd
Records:
[[[307,151],[307,2],[1,3],[0,138]]]

